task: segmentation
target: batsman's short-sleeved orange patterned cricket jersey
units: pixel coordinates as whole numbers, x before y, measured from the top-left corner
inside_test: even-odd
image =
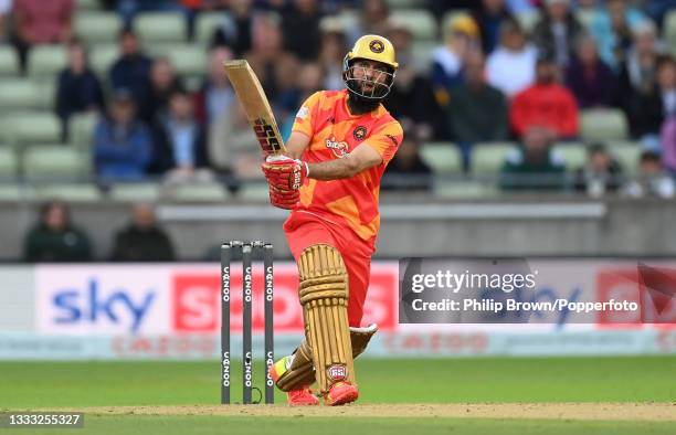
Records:
[[[339,159],[357,147],[367,146],[380,153],[382,163],[350,179],[307,179],[294,212],[314,213],[345,225],[373,247],[380,227],[380,179],[403,139],[403,130],[382,104],[369,114],[351,115],[347,97],[347,89],[320,91],[303,104],[293,127],[294,131],[310,137],[303,160],[316,163]]]

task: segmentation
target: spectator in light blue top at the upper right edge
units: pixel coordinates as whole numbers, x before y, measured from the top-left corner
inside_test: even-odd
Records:
[[[626,0],[608,0],[598,8],[591,22],[591,34],[596,40],[603,62],[616,70],[624,61],[624,52],[632,43],[632,31],[645,15],[626,4]]]

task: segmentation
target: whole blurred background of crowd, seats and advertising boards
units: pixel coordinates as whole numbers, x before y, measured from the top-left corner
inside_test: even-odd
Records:
[[[664,326],[406,341],[393,262],[547,257],[557,295],[642,291],[636,258],[672,274],[676,1],[0,0],[0,356],[218,356],[220,244],[291,259],[222,63],[249,60],[286,137],[307,96],[342,88],[366,33],[397,49],[384,105],[405,134],[382,183],[374,352],[676,351]],[[279,265],[292,349],[295,266]]]

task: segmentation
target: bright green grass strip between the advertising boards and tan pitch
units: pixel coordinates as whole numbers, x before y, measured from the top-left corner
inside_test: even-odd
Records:
[[[260,363],[254,369],[262,373]],[[362,359],[357,370],[360,403],[676,401],[676,357]],[[218,361],[2,362],[0,373],[0,407],[214,404],[220,397]],[[233,402],[240,380],[234,370]]]

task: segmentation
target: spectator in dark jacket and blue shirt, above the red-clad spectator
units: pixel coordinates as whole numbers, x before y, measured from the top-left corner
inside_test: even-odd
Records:
[[[532,31],[532,41],[540,57],[553,59],[564,68],[583,29],[570,9],[570,0],[547,0],[546,4],[545,17]]]

